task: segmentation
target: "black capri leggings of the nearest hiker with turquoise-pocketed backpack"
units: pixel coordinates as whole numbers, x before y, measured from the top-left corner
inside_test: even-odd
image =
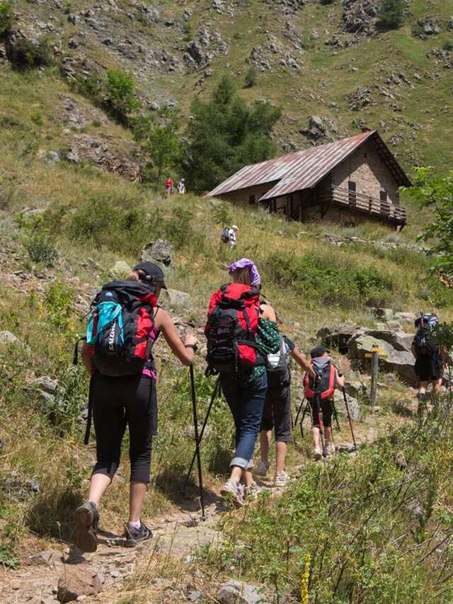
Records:
[[[157,423],[156,382],[147,375],[109,377],[98,372],[92,380],[97,457],[93,474],[113,478],[120,465],[122,437],[129,426],[130,479],[149,482]]]

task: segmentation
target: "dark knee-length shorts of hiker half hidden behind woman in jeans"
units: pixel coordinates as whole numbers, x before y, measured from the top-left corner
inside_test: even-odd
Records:
[[[277,443],[291,443],[291,387],[288,384],[281,384],[274,376],[269,377],[269,373],[268,380],[261,430],[268,431],[275,428]]]

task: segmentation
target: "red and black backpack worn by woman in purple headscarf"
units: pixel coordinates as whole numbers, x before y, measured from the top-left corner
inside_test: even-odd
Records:
[[[212,295],[207,311],[207,374],[243,373],[264,364],[256,350],[260,292],[227,283]]]

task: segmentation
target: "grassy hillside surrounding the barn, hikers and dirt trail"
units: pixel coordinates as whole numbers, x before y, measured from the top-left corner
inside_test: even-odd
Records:
[[[277,130],[281,149],[289,141],[297,147],[306,144],[298,130],[305,127],[309,115],[321,113],[336,123],[338,135],[354,132],[352,121],[359,119],[378,126],[387,142],[403,133],[401,142],[391,148],[398,151],[406,168],[415,160],[439,170],[449,166],[453,118],[446,100],[451,78],[449,69],[426,56],[452,36],[445,28],[449,17],[445,3],[432,1],[428,6],[413,1],[411,16],[400,30],[358,38],[354,45],[336,50],[325,42],[338,29],[343,10],[339,4],[308,3],[290,17],[272,4],[254,0],[226,5],[232,16],[217,13],[207,1],[177,6],[161,2],[156,4],[157,22],[144,23],[143,18],[137,21],[136,16],[127,16],[136,15],[137,5],[118,1],[117,11],[101,4],[101,16],[96,8],[94,16],[74,25],[67,21],[68,13],[79,15],[81,9],[92,8],[88,2],[74,1],[51,12],[46,4],[17,4],[21,28],[39,28],[39,35],[57,42],[57,59],[54,65],[32,72],[17,72],[0,59],[0,331],[8,330],[18,340],[0,343],[0,438],[4,441],[0,449],[0,562],[8,567],[1,571],[5,584],[22,571],[9,567],[20,566],[28,554],[64,548],[71,541],[72,511],[84,497],[95,455],[93,441],[88,448],[82,444],[81,411],[86,406],[88,380],[81,367],[71,366],[74,342],[84,332],[91,296],[110,280],[115,262],[123,260],[133,266],[149,241],[161,237],[171,242],[168,285],[190,294],[189,307],[178,312],[178,317],[175,314],[175,319],[181,329],[195,329],[202,343],[195,367],[201,414],[212,391],[212,380],[203,377],[207,301],[226,280],[226,265],[238,257],[256,261],[265,296],[282,319],[282,331],[304,351],[316,341],[321,326],[376,325],[372,306],[435,310],[442,319],[453,320],[452,292],[430,272],[429,257],[405,246],[386,249],[372,243],[413,243],[429,218],[414,205],[409,205],[409,224],[401,234],[376,224],[354,229],[299,224],[190,194],[164,198],[147,186],[102,170],[94,160],[68,161],[74,140],[81,137],[82,142],[88,140],[91,152],[98,144],[107,147],[121,165],[133,162],[134,154],[130,132],[62,78],[59,64],[64,56],[87,57],[87,71],[130,69],[150,101],[175,98],[188,115],[193,96],[207,95],[225,71],[233,72],[241,83],[252,47],[262,47],[272,34],[278,45],[291,46],[299,69],[278,67],[280,55],[274,53],[269,59],[271,69],[258,72],[258,83],[243,95],[282,105],[284,118]],[[191,16],[184,21],[187,10]],[[415,38],[411,29],[428,11],[440,16],[442,32],[423,40]],[[87,25],[85,19],[91,18],[101,19],[103,28]],[[165,24],[173,19],[173,24]],[[283,35],[287,19],[300,35],[297,51],[294,41],[290,45]],[[229,47],[226,54],[219,52],[212,58],[207,67],[212,74],[204,78],[201,72],[184,67],[181,58],[202,21],[210,30],[218,30]],[[44,27],[45,23],[53,29]],[[108,35],[115,39],[106,45],[103,39]],[[169,72],[168,64],[161,62],[145,68],[139,59],[117,52],[117,44],[127,37],[133,38],[134,45],[146,42],[155,56],[166,50],[177,57],[175,71]],[[69,40],[79,40],[71,51],[67,50]],[[389,97],[382,96],[379,88],[392,73],[403,73],[413,84],[398,84],[391,91],[401,111],[391,108]],[[352,112],[345,94],[357,86],[369,87],[376,104]],[[379,126],[382,121],[385,125]],[[220,244],[219,234],[224,224],[233,222],[240,228],[238,246],[231,252]],[[369,244],[339,247],[326,234],[362,237]],[[348,359],[334,355],[349,372]],[[193,504],[195,484],[190,486],[188,500],[180,495],[181,477],[193,447],[188,372],[162,342],[156,346],[156,356],[159,438],[144,509],[151,524],[197,505]],[[57,380],[53,396],[42,394],[34,381],[43,376]],[[299,394],[300,376],[294,375],[294,404]],[[197,552],[187,570],[168,557],[151,556],[126,583],[87,601],[175,601],[174,593],[168,599],[155,595],[157,580],[175,578],[181,584],[199,581],[205,598],[200,601],[214,601],[219,581],[233,575],[265,583],[273,597],[287,594],[293,598],[290,601],[301,601],[304,571],[310,575],[311,602],[384,604],[425,602],[431,597],[451,601],[452,560],[449,541],[442,542],[451,535],[451,420],[446,410],[442,416],[434,415],[426,433],[420,435],[411,419],[414,395],[413,389],[397,381],[382,387],[379,412],[372,413],[366,399],[360,401],[357,435],[363,443],[377,437],[379,442],[364,446],[350,460],[342,456],[328,467],[311,464],[309,438],[298,436],[289,467],[294,474],[294,468],[303,465],[302,479],[295,480],[277,503],[264,498],[247,513],[224,514],[224,546]],[[231,449],[231,417],[222,402],[214,407],[210,426],[203,464],[205,486],[214,498]],[[408,460],[404,472],[394,464],[400,450]],[[127,459],[123,455],[117,482],[103,501],[103,526],[117,531],[122,530],[127,508]],[[30,491],[29,480],[38,482],[39,492]],[[351,507],[350,501],[360,501],[360,505]],[[309,562],[306,554],[311,555]],[[348,564],[343,567],[345,559]]]

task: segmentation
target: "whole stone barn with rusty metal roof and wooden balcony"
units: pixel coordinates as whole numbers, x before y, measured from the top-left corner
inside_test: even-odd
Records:
[[[402,229],[406,208],[398,188],[408,176],[375,130],[245,166],[209,195],[263,204],[288,220],[359,224],[374,220]]]

